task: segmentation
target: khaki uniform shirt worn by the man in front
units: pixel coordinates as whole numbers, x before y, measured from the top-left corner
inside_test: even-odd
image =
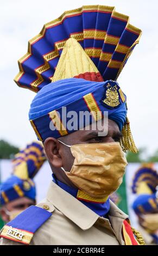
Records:
[[[52,216],[35,232],[30,245],[124,245],[122,224],[128,218],[110,201],[108,218],[100,217],[51,182],[47,197],[37,206]],[[22,245],[1,238],[1,245]]]

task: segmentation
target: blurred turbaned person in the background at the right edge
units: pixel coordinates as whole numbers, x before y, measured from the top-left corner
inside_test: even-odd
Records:
[[[158,245],[158,173],[152,163],[144,163],[133,178],[132,192],[136,199],[132,204],[140,231],[148,245]]]

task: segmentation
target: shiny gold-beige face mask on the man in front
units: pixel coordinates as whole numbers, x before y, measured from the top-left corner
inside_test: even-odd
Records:
[[[74,163],[70,172],[62,169],[81,191],[105,198],[121,185],[127,160],[118,142],[66,146],[71,148]]]

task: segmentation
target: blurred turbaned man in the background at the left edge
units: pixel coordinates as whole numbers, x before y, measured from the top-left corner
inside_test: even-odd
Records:
[[[2,220],[13,220],[30,205],[36,204],[36,189],[33,177],[41,168],[46,156],[43,145],[39,142],[28,144],[15,155],[12,161],[13,173],[1,184]]]

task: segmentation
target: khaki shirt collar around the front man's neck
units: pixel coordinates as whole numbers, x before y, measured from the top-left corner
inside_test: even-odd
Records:
[[[87,208],[87,206],[60,188],[53,181],[50,182],[47,199],[55,206],[56,209],[61,211],[62,214],[83,230],[91,228],[99,218],[99,215]],[[113,219],[113,216],[123,219],[128,217],[110,201],[109,217],[111,220]]]

